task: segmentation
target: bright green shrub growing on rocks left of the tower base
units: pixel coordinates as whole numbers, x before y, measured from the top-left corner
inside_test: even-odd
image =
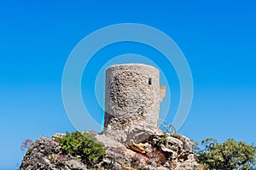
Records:
[[[81,156],[84,161],[96,161],[106,152],[104,144],[98,142],[93,133],[67,132],[59,142],[62,150],[73,156]]]

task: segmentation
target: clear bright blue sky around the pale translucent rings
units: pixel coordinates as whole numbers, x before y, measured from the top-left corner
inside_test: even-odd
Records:
[[[189,62],[195,94],[179,133],[197,141],[234,138],[256,144],[255,9],[251,0],[1,1],[0,169],[18,167],[23,140],[75,130],[61,99],[67,57],[90,32],[125,22],[166,32]],[[119,54],[149,50],[136,44],[111,48]],[[88,67],[97,64],[95,59]],[[163,70],[168,66],[160,65]],[[90,77],[88,85],[82,82],[84,100],[90,100],[95,97],[86,95],[86,89],[95,74],[84,74]],[[93,108],[94,100],[91,110],[102,116]]]

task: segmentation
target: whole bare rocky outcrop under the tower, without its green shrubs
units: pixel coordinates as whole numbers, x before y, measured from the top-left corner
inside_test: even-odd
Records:
[[[132,129],[126,143],[119,143],[105,134],[96,134],[96,139],[105,144],[105,156],[88,165],[79,156],[62,151],[57,142],[64,134],[55,134],[51,139],[41,138],[27,150],[20,170],[32,169],[199,169],[195,161],[190,139],[183,135],[171,135],[160,130]]]

